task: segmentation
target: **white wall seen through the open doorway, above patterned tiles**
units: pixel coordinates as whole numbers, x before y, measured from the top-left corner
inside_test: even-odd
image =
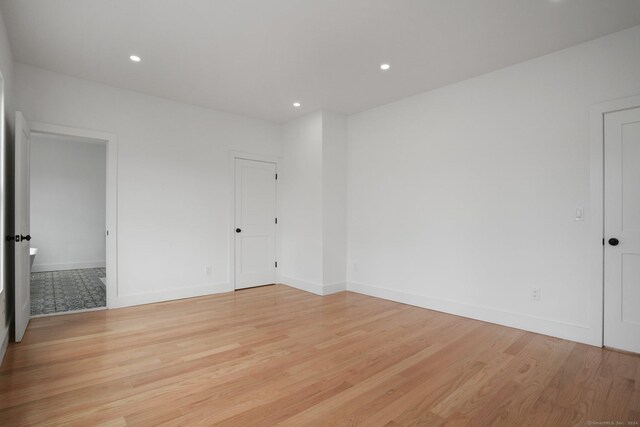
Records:
[[[32,271],[104,267],[106,143],[33,134]]]

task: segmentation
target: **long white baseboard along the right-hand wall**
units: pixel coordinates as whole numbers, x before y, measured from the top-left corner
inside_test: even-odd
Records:
[[[495,310],[488,307],[365,285],[362,283],[348,282],[347,290],[403,304],[441,311],[457,316],[482,320],[484,322],[509,326],[516,329],[522,329],[525,331],[550,335],[557,338],[600,347],[600,337],[597,336],[597,328],[589,328],[584,325],[541,319],[518,313]]]

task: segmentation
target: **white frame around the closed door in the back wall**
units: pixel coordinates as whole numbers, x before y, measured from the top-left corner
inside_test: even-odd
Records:
[[[236,289],[236,233],[235,233],[235,212],[236,212],[236,159],[255,160],[258,162],[270,162],[276,164],[276,173],[280,170],[281,157],[270,156],[266,154],[253,154],[243,151],[229,151],[229,220],[227,226],[229,229],[229,290]],[[280,211],[280,202],[278,199],[278,181],[276,181],[276,218]],[[280,254],[280,233],[276,227],[276,261]],[[276,283],[280,283],[280,268],[276,268]]]

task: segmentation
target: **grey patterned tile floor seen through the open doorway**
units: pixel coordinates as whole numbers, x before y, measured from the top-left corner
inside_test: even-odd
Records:
[[[104,268],[31,273],[31,315],[106,306]]]

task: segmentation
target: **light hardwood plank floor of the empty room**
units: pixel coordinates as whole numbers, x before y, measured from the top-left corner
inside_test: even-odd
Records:
[[[11,426],[611,421],[640,421],[638,356],[285,286],[34,319],[0,368]]]

